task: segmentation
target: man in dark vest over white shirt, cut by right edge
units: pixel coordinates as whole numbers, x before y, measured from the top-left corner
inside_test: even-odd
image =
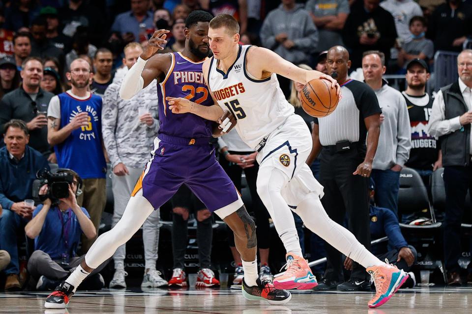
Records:
[[[461,222],[467,190],[472,191],[472,50],[458,55],[457,70],[459,79],[436,94],[428,124],[430,135],[439,137],[442,150],[446,192],[444,260],[448,285],[462,284],[458,262],[462,252]],[[467,282],[472,283],[472,263],[468,270]]]

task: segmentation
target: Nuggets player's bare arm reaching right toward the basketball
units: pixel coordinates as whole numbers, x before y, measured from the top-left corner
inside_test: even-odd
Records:
[[[247,52],[246,67],[256,78],[267,77],[267,74],[277,73],[286,78],[290,78],[295,82],[306,84],[315,78],[324,78],[331,82],[332,88],[336,88],[337,94],[341,88],[334,78],[319,71],[308,71],[297,67],[292,62],[282,58],[277,53],[262,47],[253,47]]]

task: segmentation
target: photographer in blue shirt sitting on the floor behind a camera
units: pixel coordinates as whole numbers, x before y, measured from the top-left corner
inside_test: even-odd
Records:
[[[69,270],[80,264],[84,257],[76,256],[76,251],[82,233],[89,239],[96,236],[87,209],[77,204],[77,191],[82,180],[72,170],[65,169],[58,173],[69,174],[69,178],[73,178],[64,180],[70,180],[69,196],[55,200],[48,193],[50,186],[43,185],[39,195],[41,199],[47,199],[34,210],[33,218],[25,227],[26,235],[34,239],[35,251],[29,258],[28,271],[38,280],[38,290],[55,288],[70,274]],[[88,279],[87,288],[103,288],[103,278],[98,272],[105,265],[106,262],[94,271],[95,276]]]

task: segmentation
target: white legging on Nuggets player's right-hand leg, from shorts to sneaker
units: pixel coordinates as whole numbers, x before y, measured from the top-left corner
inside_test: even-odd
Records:
[[[298,204],[295,212],[301,217],[308,229],[321,236],[354,262],[358,262],[365,268],[384,264],[357,241],[349,230],[329,218],[318,195],[312,193]]]

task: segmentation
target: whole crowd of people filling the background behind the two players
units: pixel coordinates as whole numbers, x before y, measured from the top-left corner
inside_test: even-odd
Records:
[[[388,248],[376,254],[398,262],[405,270],[410,270],[416,251],[398,227],[399,219],[405,223],[413,219],[398,212],[400,171],[403,167],[415,169],[429,186],[432,172],[444,166],[446,200],[455,200],[446,201],[445,206],[447,283],[462,283],[459,231],[464,211],[470,210],[464,199],[472,188],[472,114],[468,112],[472,106],[472,51],[464,50],[472,36],[469,1],[447,0],[434,7],[428,0],[3,0],[0,269],[6,275],[5,290],[25,284],[26,270],[21,269],[18,257],[18,235],[23,230],[34,239],[26,269],[36,288],[54,288],[80,263],[99,233],[106,204],[107,163],[115,206],[112,225],[118,222],[127,202],[125,196],[132,192],[159,131],[156,83],[128,101],[119,98],[119,84],[156,29],[170,30],[162,53],[182,51],[185,19],[196,9],[233,15],[240,24],[242,44],[266,47],[302,68],[338,79],[343,90],[340,104],[350,106],[350,111],[336,112],[348,116],[333,113],[315,120],[301,109],[298,93],[302,86],[282,77],[279,82],[313,133],[315,148],[307,162],[325,187],[322,201],[330,217],[339,223],[346,221],[366,247],[371,237],[387,235]],[[451,86],[437,86],[441,90],[434,98],[425,86],[437,51],[462,53],[459,79]],[[351,83],[349,74],[356,70],[364,82]],[[385,74],[405,75],[407,89],[400,93],[390,87],[383,79]],[[452,105],[445,107],[449,102]],[[355,138],[336,129],[341,124],[354,128],[349,134]],[[350,142],[350,153],[337,150],[342,141]],[[215,145],[236,188],[241,189],[241,173],[245,173],[260,235],[260,274],[270,278],[270,242],[265,237],[269,217],[255,189],[257,152],[245,146],[235,131]],[[464,150],[453,150],[453,146]],[[52,164],[74,178],[70,197],[59,203],[39,197],[42,201],[34,206],[36,173]],[[338,167],[341,164],[343,167]],[[363,168],[365,178],[346,181],[359,167],[368,170]],[[46,195],[46,187],[38,193]],[[365,205],[361,211],[359,204]],[[182,284],[186,280],[183,259],[188,217],[193,214],[197,220],[204,271],[211,268],[213,217],[189,190],[179,191],[172,208],[173,278]],[[158,226],[156,211],[143,227],[143,287],[167,285],[156,270]],[[302,224],[298,227],[303,241]],[[243,276],[241,260],[231,237],[229,242],[236,264],[233,283],[238,286]],[[368,288],[361,266],[344,259],[332,247],[326,247],[325,253],[323,241],[315,235],[310,242],[312,258],[328,257],[318,289]],[[124,258],[125,248],[121,247],[113,257],[116,271],[110,287],[126,287]],[[468,282],[472,281],[471,264]],[[95,270],[86,287],[103,287],[98,272],[104,266]],[[343,266],[352,270],[347,282]],[[315,272],[323,273],[324,267]],[[169,284],[172,282],[176,280]],[[214,284],[219,283],[216,280]]]

